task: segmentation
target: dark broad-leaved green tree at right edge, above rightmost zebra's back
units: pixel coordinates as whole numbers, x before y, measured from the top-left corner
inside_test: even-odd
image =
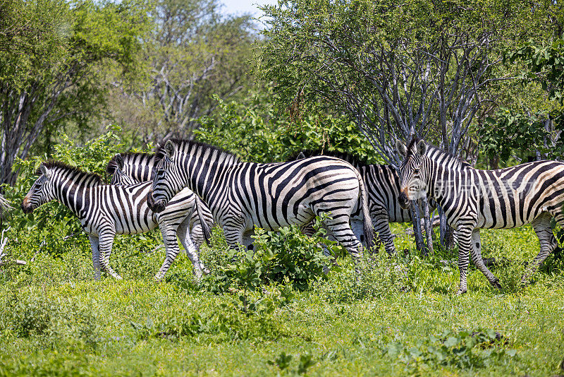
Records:
[[[564,10],[548,8],[544,33],[517,44],[505,52],[506,66],[517,67],[520,92],[533,93],[534,99],[516,100],[517,106],[499,108],[479,130],[482,150],[502,160],[562,159],[564,143]]]

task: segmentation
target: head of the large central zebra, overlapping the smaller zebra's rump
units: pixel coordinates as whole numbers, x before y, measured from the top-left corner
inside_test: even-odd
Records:
[[[184,188],[174,162],[176,145],[166,140],[162,150],[163,157],[154,167],[153,189],[147,196],[147,205],[154,213],[162,212],[168,201]]]

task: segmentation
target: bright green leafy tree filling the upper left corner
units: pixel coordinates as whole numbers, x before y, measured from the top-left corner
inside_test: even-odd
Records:
[[[0,12],[0,182],[13,184],[47,126],[99,112],[100,64],[135,72],[149,18],[137,0],[7,0]]]

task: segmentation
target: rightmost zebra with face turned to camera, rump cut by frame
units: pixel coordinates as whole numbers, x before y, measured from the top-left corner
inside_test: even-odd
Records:
[[[447,152],[414,139],[396,148],[404,160],[400,167],[400,205],[427,195],[445,211],[448,224],[457,229],[458,294],[467,291],[468,255],[491,285],[501,288],[498,279],[482,261],[479,229],[509,229],[531,224],[541,250],[529,273],[556,249],[551,217],[564,226],[564,163],[538,161],[498,170],[474,169]],[[522,276],[525,284],[529,273]]]

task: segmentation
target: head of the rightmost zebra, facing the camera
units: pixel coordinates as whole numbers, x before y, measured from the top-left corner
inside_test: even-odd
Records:
[[[402,208],[409,208],[410,201],[423,198],[427,195],[427,171],[424,169],[423,157],[427,152],[425,140],[414,138],[410,145],[405,145],[397,140],[396,149],[403,156],[400,165],[400,197],[398,201]]]

